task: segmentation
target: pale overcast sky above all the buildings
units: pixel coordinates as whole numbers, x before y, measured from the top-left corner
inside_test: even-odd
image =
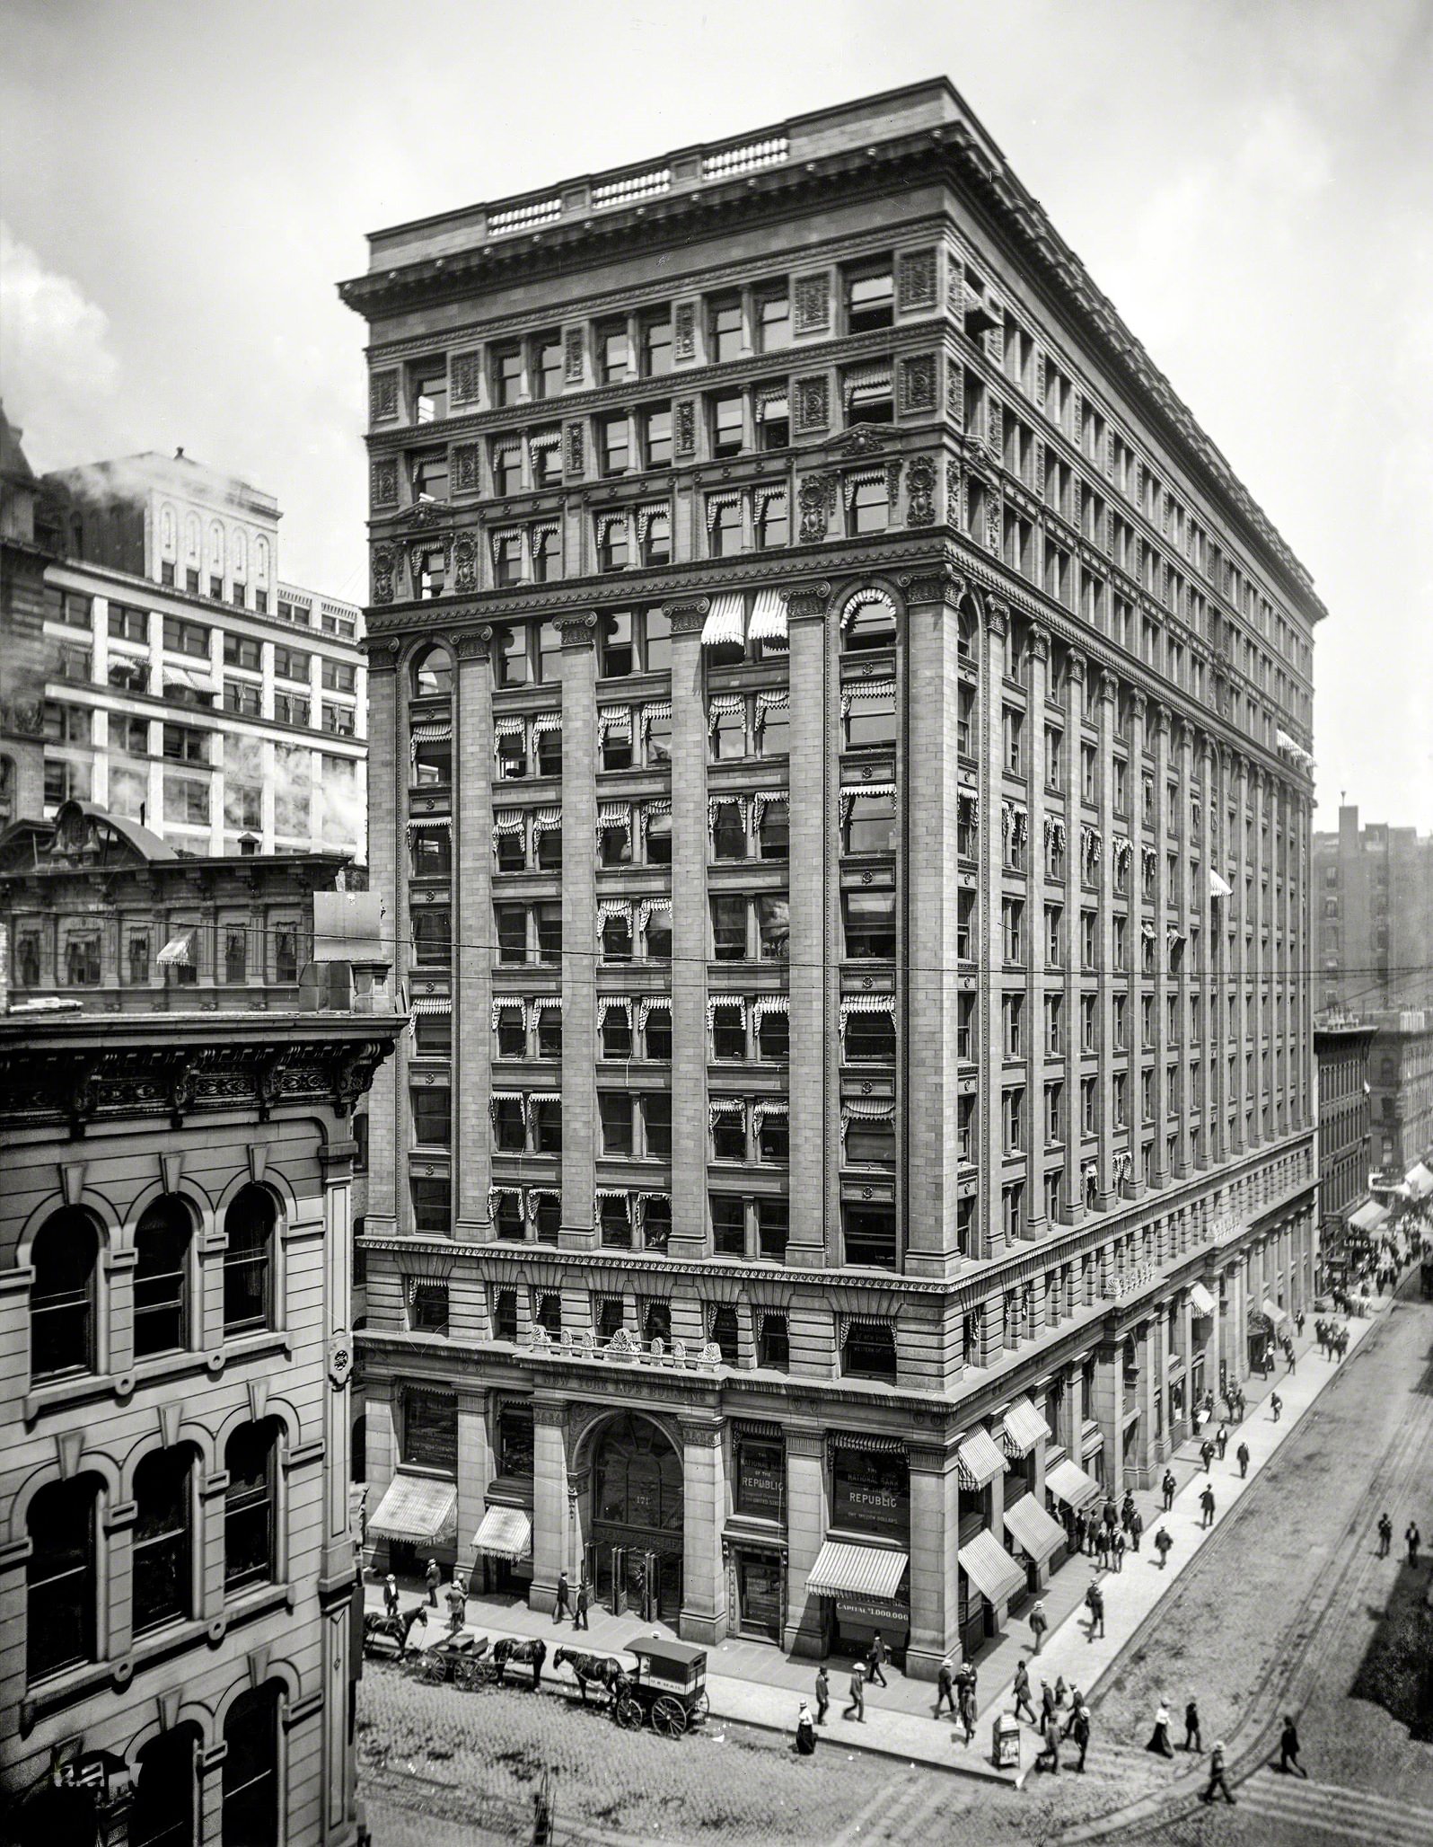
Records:
[[[0,0],[0,393],[364,595],[364,233],[945,72],[1313,571],[1322,826],[1433,824],[1433,0]]]

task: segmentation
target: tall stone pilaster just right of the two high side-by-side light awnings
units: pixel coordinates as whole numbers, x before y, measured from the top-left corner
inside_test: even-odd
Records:
[[[829,584],[787,595],[790,639],[790,1241],[792,1269],[825,1269],[840,1241],[840,1034],[835,968],[827,964],[837,857],[831,752]],[[704,816],[705,826],[705,816]]]

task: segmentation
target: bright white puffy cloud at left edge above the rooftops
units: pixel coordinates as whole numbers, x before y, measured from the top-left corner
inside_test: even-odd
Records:
[[[26,429],[35,467],[85,453],[96,399],[114,395],[120,366],[109,351],[109,316],[68,275],[0,223],[0,390]]]

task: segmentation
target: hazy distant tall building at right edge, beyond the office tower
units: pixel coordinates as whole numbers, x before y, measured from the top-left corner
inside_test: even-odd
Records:
[[[1433,837],[1341,807],[1313,837],[1313,912],[1315,1007],[1433,1007]]]

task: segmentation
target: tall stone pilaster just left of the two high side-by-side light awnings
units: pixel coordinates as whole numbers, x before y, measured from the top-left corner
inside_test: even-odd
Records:
[[[704,1258],[707,1236],[707,598],[667,606],[672,622],[672,1239]]]

